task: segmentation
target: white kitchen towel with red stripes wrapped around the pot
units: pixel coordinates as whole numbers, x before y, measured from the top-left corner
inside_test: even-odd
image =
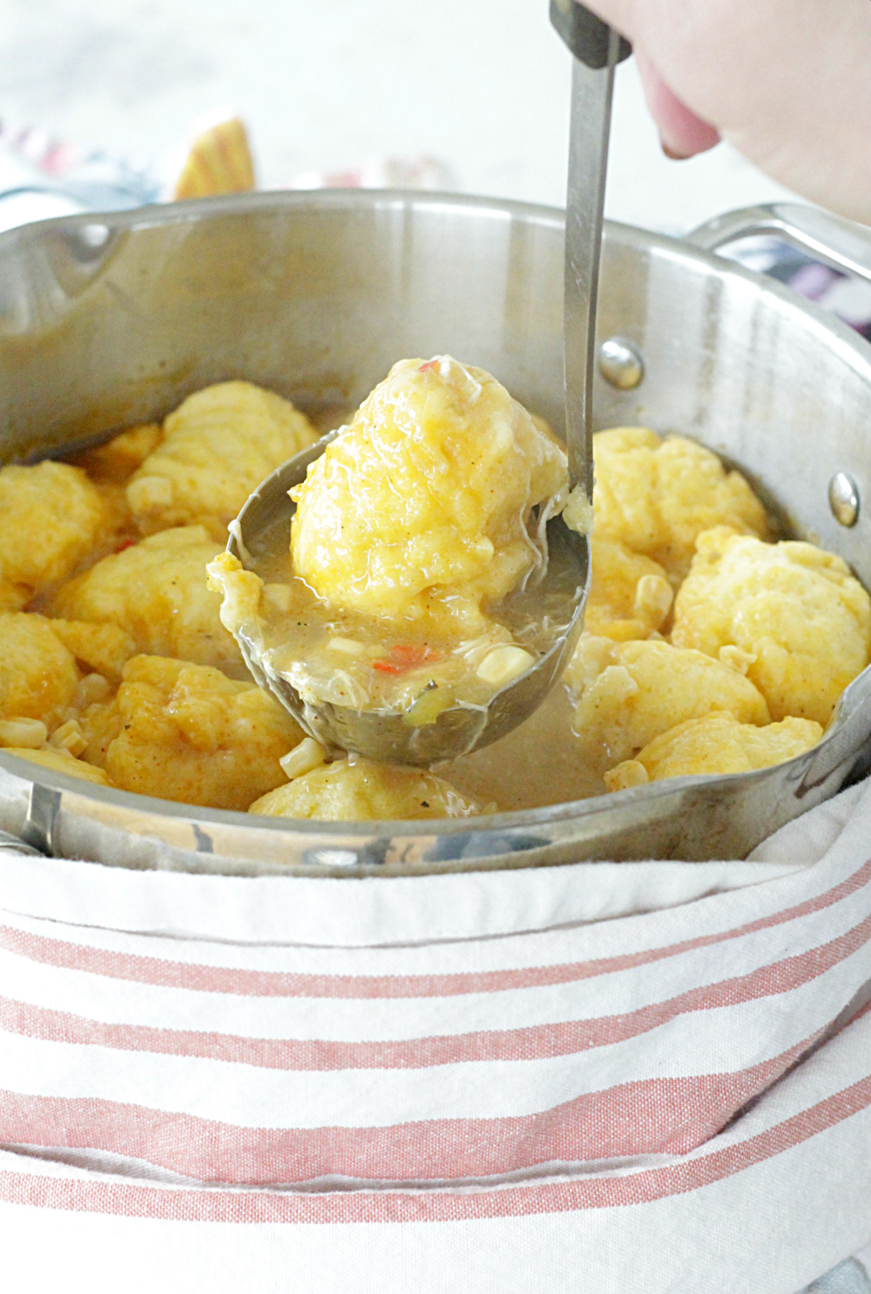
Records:
[[[871,783],[749,862],[110,863],[0,850],[4,1290],[796,1294],[871,1240]]]

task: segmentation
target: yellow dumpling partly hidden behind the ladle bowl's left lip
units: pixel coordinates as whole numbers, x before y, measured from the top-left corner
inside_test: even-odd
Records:
[[[206,564],[223,551],[202,525],[180,525],[104,558],[63,585],[54,615],[118,625],[135,650],[242,673],[238,647],[206,587]]]

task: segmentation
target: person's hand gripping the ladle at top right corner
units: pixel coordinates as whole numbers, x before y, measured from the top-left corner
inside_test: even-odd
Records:
[[[729,140],[774,180],[871,223],[868,0],[584,0],[633,41],[669,157]]]

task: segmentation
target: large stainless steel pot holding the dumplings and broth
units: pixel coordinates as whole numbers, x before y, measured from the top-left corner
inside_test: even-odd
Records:
[[[699,237],[771,229],[871,267],[855,226],[800,208]],[[105,439],[225,378],[309,410],[348,404],[397,357],[445,351],[560,426],[562,241],[547,208],[373,192],[246,194],[13,230],[0,237],[0,458]],[[607,228],[602,282],[599,342],[632,343],[642,365],[621,343],[607,348],[598,426],[699,439],[871,587],[871,348],[778,283],[639,229]],[[857,499],[855,516],[839,503],[841,521],[836,479],[835,499]],[[870,736],[866,670],[819,745],[778,767],[441,824],[194,809],[0,754],[0,826],[48,853],[248,875],[742,857],[857,775]]]

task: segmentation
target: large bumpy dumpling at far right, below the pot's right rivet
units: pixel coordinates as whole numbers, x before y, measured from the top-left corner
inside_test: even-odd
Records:
[[[674,603],[672,641],[738,656],[771,717],[827,723],[871,659],[871,598],[811,543],[761,543],[717,527],[699,536]]]

